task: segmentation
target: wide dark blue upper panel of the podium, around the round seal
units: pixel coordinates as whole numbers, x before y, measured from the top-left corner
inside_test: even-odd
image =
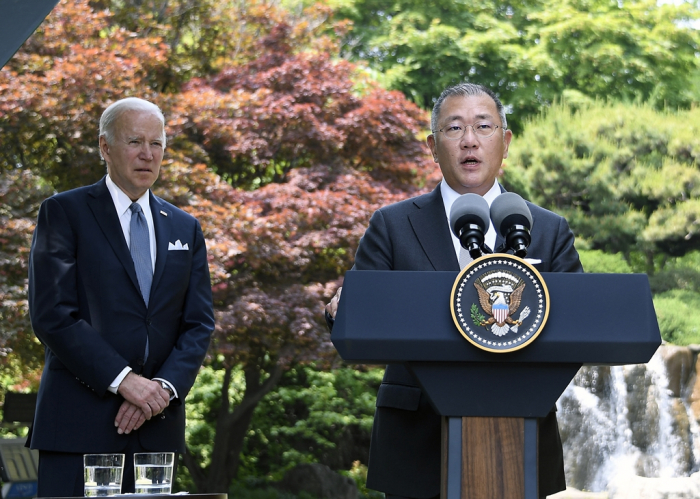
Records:
[[[550,313],[539,337],[508,353],[477,348],[450,312],[457,272],[350,271],[331,340],[350,362],[648,362],[661,343],[645,274],[543,273]]]

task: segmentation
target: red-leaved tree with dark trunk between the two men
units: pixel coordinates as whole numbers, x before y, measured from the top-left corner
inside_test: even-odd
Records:
[[[371,212],[419,192],[434,171],[416,139],[427,125],[418,108],[371,85],[360,93],[354,66],[295,54],[289,32],[276,25],[263,56],[191,81],[178,104],[181,135],[240,186],[218,201],[225,220],[204,224],[222,354],[213,365],[225,376],[211,460],[205,469],[186,457],[203,492],[235,476],[253,410],[282,373],[332,354],[323,303],[351,267]],[[245,393],[234,407],[238,366]]]

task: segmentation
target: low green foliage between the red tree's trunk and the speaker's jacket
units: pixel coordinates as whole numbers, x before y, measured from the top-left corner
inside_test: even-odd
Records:
[[[242,472],[281,478],[299,463],[321,462],[333,469],[350,469],[358,459],[366,464],[382,375],[377,368],[291,369],[256,410]]]

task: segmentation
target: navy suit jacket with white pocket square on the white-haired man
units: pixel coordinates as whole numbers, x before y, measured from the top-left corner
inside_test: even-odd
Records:
[[[143,447],[185,449],[182,401],[214,328],[206,247],[194,217],[153,194],[150,207],[157,256],[146,307],[104,178],[41,205],[29,258],[29,311],[45,346],[34,449],[122,450],[128,436],[114,419],[123,398],[107,388],[126,366],[168,380],[179,396],[137,430]],[[178,239],[189,249],[169,251]]]

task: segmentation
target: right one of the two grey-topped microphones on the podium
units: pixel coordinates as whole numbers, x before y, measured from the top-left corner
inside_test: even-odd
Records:
[[[498,233],[506,240],[506,248],[525,258],[530,246],[532,214],[525,200],[514,192],[504,192],[491,203],[491,219]]]

